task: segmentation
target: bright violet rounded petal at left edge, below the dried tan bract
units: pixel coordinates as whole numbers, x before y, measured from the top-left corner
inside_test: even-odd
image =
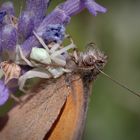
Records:
[[[0,106],[5,104],[9,98],[9,89],[5,86],[4,82],[0,80]]]

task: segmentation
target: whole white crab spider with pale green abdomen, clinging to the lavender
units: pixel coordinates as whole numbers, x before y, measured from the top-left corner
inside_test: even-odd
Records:
[[[61,48],[60,44],[58,43],[47,46],[41,37],[39,37],[35,32],[33,33],[44,48],[33,47],[30,53],[29,61],[22,53],[20,46],[18,46],[21,59],[23,59],[27,65],[33,67],[32,70],[19,77],[19,89],[23,92],[26,92],[23,88],[26,80],[30,78],[58,78],[63,73],[70,72],[70,70],[63,68],[66,65],[66,58],[64,54],[68,55],[67,51],[69,49],[75,48],[73,42],[64,48]],[[48,65],[48,67],[44,68],[41,64]],[[51,64],[57,64],[58,67],[49,66]]]

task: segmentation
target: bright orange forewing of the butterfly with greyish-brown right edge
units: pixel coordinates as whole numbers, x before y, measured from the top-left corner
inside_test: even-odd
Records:
[[[78,75],[74,75],[70,94],[63,110],[45,140],[80,140],[87,114],[88,99],[89,87],[84,87],[83,80]]]

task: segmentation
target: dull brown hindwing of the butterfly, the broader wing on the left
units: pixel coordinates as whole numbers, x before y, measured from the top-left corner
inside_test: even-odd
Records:
[[[0,139],[42,140],[48,133],[59,116],[69,91],[64,84],[64,77],[38,87],[39,92],[35,96],[23,106],[17,105],[9,112],[9,120],[0,132]]]

